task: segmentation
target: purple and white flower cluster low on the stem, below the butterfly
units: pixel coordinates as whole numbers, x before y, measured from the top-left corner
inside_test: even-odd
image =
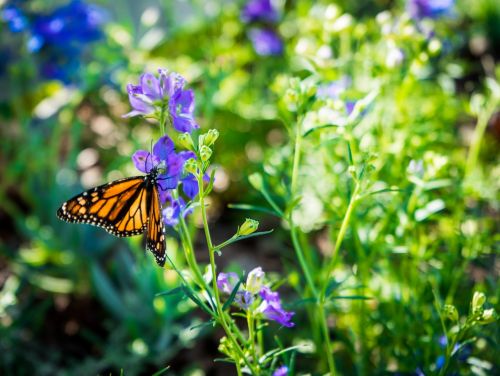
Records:
[[[264,285],[263,279],[262,268],[258,267],[250,271],[246,283],[241,284],[236,293],[234,299],[236,305],[244,310],[252,309],[266,319],[276,321],[288,328],[294,326],[292,317],[295,313],[283,309],[278,292]],[[219,273],[217,287],[221,292],[229,295],[233,292],[238,280],[236,273]]]

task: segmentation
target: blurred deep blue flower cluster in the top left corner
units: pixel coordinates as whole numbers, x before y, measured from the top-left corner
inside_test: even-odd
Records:
[[[38,54],[43,77],[74,82],[81,70],[84,47],[103,37],[102,26],[108,19],[105,11],[81,0],[43,14],[29,13],[22,5],[9,1],[0,18],[12,32],[27,34],[27,50]]]

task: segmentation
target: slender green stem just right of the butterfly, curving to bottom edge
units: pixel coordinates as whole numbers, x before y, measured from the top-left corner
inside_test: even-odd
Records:
[[[248,361],[247,357],[243,353],[243,350],[240,347],[240,344],[234,337],[233,332],[230,330],[228,323],[226,322],[226,315],[224,311],[222,310],[222,304],[220,300],[220,295],[219,295],[219,289],[217,288],[217,273],[215,270],[215,249],[212,243],[212,237],[210,235],[210,229],[208,227],[208,218],[207,218],[207,210],[205,207],[205,192],[204,192],[204,185],[203,185],[203,169],[200,163],[199,166],[200,173],[198,174],[198,189],[199,189],[199,202],[201,206],[201,216],[203,220],[203,230],[205,232],[205,238],[207,241],[207,247],[208,247],[208,254],[210,257],[210,267],[212,271],[212,289],[214,292],[215,296],[215,305],[217,308],[217,313],[218,313],[218,321],[222,328],[224,329],[227,338],[233,343],[234,349],[238,353],[238,356],[245,362],[245,364],[248,366],[250,369],[251,373],[256,375],[258,374],[258,371],[255,369],[255,367]],[[239,359],[235,359],[236,362],[239,362]]]

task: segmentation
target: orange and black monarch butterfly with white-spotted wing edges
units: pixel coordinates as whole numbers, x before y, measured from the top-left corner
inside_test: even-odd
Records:
[[[158,167],[89,189],[66,201],[57,216],[72,223],[98,226],[115,236],[146,232],[146,249],[158,265],[165,265],[165,235],[157,187]]]

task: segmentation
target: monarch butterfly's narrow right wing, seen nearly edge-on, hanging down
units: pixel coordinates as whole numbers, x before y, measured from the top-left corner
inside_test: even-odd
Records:
[[[148,231],[146,234],[146,249],[153,252],[158,265],[165,265],[165,234],[160,206],[160,196],[156,184],[152,186],[149,198]]]

